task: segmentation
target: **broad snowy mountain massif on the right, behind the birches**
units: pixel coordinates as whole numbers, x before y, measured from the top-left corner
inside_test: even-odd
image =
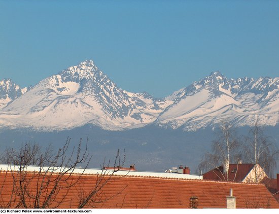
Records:
[[[279,78],[227,79],[219,72],[170,96],[173,104],[156,123],[163,127],[197,130],[221,121],[237,126],[279,122]]]

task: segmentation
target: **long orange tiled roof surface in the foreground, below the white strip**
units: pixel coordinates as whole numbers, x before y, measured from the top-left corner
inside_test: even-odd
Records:
[[[32,176],[32,173],[29,173]],[[52,178],[55,176],[52,175]],[[60,187],[77,182],[71,189],[62,188],[49,207],[77,208],[80,195],[95,187],[96,175],[72,175],[70,180],[60,183]],[[16,207],[18,196],[13,193],[13,176],[0,172],[0,206],[4,207],[11,198]],[[30,194],[35,194],[42,179],[32,179],[28,183]],[[230,189],[236,197],[237,208],[279,208],[279,203],[262,184],[239,184],[202,180],[162,179],[155,177],[113,176],[84,208],[189,208],[189,198],[198,197],[199,208],[225,208],[226,196]],[[50,192],[50,190],[47,190]],[[44,195],[44,194],[43,194]],[[64,198],[63,198],[64,197]],[[33,199],[27,197],[31,206]],[[61,204],[58,204],[62,201]]]

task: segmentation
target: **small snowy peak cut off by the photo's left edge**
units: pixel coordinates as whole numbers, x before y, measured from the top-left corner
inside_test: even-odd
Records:
[[[21,89],[10,79],[0,81],[0,110],[3,109],[10,102],[20,97],[29,90],[28,88]]]

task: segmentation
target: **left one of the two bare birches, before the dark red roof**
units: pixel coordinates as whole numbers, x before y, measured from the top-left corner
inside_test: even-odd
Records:
[[[203,156],[198,166],[199,170],[211,170],[216,168],[220,180],[228,181],[227,173],[231,161],[239,159],[239,141],[236,138],[235,129],[229,123],[223,122],[217,139],[212,142],[212,151]],[[218,168],[222,166],[223,168]],[[235,173],[236,174],[236,173]]]

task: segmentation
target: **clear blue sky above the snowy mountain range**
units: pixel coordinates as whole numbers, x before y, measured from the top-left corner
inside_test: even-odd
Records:
[[[0,79],[22,87],[92,59],[164,97],[219,70],[279,76],[279,1],[2,1]]]

